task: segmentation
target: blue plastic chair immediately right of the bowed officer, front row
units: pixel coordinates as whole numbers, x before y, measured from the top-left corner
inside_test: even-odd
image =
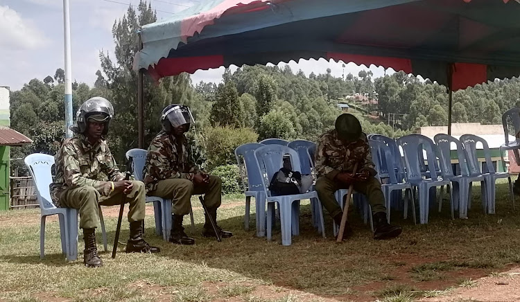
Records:
[[[388,222],[390,222],[390,204],[392,204],[392,197],[395,197],[392,192],[397,191],[398,196],[401,196],[402,190],[405,190],[405,203],[404,203],[404,218],[406,219],[408,215],[408,200],[412,206],[413,213],[413,221],[415,220],[415,199],[413,197],[412,192],[412,184],[404,181],[402,177],[402,172],[397,172],[397,166],[395,161],[395,154],[392,152],[392,148],[386,143],[381,141],[368,141],[370,145],[370,150],[372,152],[372,159],[374,160],[374,164],[376,166],[376,171],[379,175],[382,175],[383,172],[388,176],[388,183],[381,184],[381,189],[383,190],[383,195],[385,196],[385,206],[386,206],[386,218]],[[397,145],[396,145],[397,146]],[[402,168],[402,167],[401,167]],[[381,181],[381,179],[380,179]],[[408,190],[411,196],[411,199],[408,198]]]

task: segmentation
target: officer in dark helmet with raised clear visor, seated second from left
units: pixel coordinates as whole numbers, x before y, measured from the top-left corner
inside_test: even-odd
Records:
[[[216,237],[208,214],[216,222],[216,211],[222,199],[222,181],[197,168],[189,156],[189,145],[184,133],[193,124],[189,107],[168,105],[162,110],[162,131],[155,136],[144,168],[144,183],[148,195],[171,199],[172,228],[169,241],[177,245],[193,245],[195,240],[184,233],[182,220],[189,214],[191,195],[205,194],[204,201],[208,213],[202,236]],[[229,238],[231,232],[217,226],[221,238]]]

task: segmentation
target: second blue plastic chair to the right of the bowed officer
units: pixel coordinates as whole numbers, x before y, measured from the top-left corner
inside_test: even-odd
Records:
[[[428,137],[421,134],[410,134],[397,139],[397,144],[403,148],[404,161],[406,165],[407,181],[412,184],[414,188],[419,190],[419,222],[421,224],[428,223],[428,212],[430,206],[430,189],[437,186],[451,186],[449,179],[439,179],[437,171],[431,169],[429,175],[431,178],[423,179],[420,161],[422,157],[422,150],[426,150],[426,160],[429,167],[435,166],[437,155],[435,154],[435,144]],[[451,218],[453,219],[453,190],[451,193]]]

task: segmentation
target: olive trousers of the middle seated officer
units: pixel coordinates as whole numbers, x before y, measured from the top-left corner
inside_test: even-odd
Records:
[[[208,209],[218,208],[222,202],[222,180],[209,175],[209,184],[196,186],[188,179],[164,179],[157,182],[157,189],[148,192],[150,196],[171,199],[171,212],[175,215],[188,215],[191,209],[191,195],[204,194],[204,202]]]

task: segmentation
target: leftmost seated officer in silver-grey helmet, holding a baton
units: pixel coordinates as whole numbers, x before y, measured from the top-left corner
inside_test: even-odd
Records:
[[[145,215],[145,188],[141,181],[124,180],[103,138],[114,115],[112,104],[105,98],[90,98],[76,114],[75,135],[63,142],[55,155],[56,177],[51,184],[51,197],[58,207],[76,208],[80,213],[85,251],[83,263],[87,267],[101,267],[95,230],[98,227],[98,206],[121,204],[126,195],[130,203],[128,221],[130,239],[126,252],[157,253],[159,248],[148,245],[142,238]],[[97,180],[103,172],[110,181]]]

